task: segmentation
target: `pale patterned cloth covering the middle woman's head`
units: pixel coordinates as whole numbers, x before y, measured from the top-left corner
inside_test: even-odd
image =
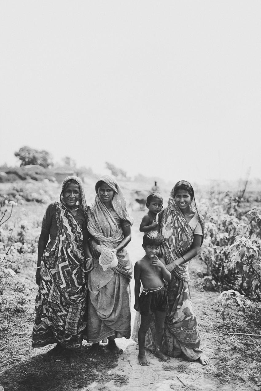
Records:
[[[95,197],[95,203],[99,204],[100,208],[107,209],[106,206],[104,206],[104,203],[99,198],[98,189],[101,182],[105,182],[109,187],[112,188],[112,190],[115,191],[115,194],[113,195],[113,199],[112,199],[112,206],[115,212],[117,213],[117,215],[120,217],[120,219],[127,220],[130,223],[130,225],[132,225],[133,218],[128,213],[126,200],[122,193],[121,187],[111,176],[104,175],[97,180],[95,185],[95,191],[97,194],[97,196]]]

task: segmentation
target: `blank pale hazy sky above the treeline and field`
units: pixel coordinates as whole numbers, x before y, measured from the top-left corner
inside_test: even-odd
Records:
[[[261,177],[261,2],[0,2],[0,164]]]

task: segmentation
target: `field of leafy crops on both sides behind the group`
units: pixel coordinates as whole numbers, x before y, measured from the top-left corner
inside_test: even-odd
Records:
[[[94,198],[94,190],[88,191],[89,188],[86,188],[87,202]],[[133,204],[130,199],[131,183],[124,185],[124,191],[129,203]],[[168,190],[164,192],[165,205],[167,193]],[[58,195],[59,185],[48,181],[0,184],[0,333],[4,338],[10,332],[16,335],[15,343],[0,345],[0,369],[6,364],[14,364],[15,345],[19,345],[18,330],[22,333],[23,325],[28,326],[28,322],[31,322],[29,328],[32,326],[41,220],[47,204]],[[261,335],[260,195],[246,192],[242,199],[238,199],[228,192],[209,191],[197,198],[198,208],[205,217],[206,230],[198,259],[202,267],[195,272],[194,286],[202,295],[214,292],[212,311],[213,316],[218,317],[218,332],[228,337],[234,335],[233,346],[236,346],[234,353],[220,356],[214,372],[221,381],[230,382],[238,375],[241,365],[242,381],[251,381],[253,387],[257,387],[261,384],[261,337],[258,337]],[[142,212],[134,211],[133,214],[135,220],[139,220],[135,221],[130,244],[134,263],[141,251],[137,227]],[[247,337],[244,336],[246,334]],[[212,341],[212,345],[215,343]],[[220,346],[220,340],[218,344]],[[20,349],[26,355],[30,346]],[[223,349],[228,352],[225,346]],[[244,361],[241,360],[240,364],[235,357],[242,357],[242,351]],[[231,368],[229,362],[233,363]],[[246,363],[250,369],[246,368]]]

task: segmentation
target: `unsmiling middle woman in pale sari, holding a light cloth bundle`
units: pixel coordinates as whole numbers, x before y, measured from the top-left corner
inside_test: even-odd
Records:
[[[88,276],[88,327],[86,338],[92,343],[90,355],[97,355],[100,341],[108,338],[108,348],[122,353],[115,338],[130,338],[130,280],[132,265],[125,246],[131,240],[133,220],[120,186],[110,177],[99,178],[94,204],[88,209],[87,228],[92,235],[90,248],[94,269]],[[103,245],[117,256],[118,264],[104,271],[99,264]]]

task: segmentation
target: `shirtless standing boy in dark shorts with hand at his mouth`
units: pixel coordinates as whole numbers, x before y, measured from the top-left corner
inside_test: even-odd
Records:
[[[154,355],[163,361],[169,362],[169,358],[161,352],[161,344],[164,331],[164,321],[169,308],[167,292],[164,281],[171,280],[171,273],[167,271],[165,262],[158,258],[162,236],[157,231],[146,232],[143,237],[142,247],[145,255],[134,266],[135,279],[135,305],[136,311],[140,312],[141,323],[138,332],[140,365],[149,365],[145,355],[145,335],[148,331],[151,317],[155,315],[155,351]],[[143,292],[140,294],[140,282]],[[140,296],[139,296],[140,294]]]

